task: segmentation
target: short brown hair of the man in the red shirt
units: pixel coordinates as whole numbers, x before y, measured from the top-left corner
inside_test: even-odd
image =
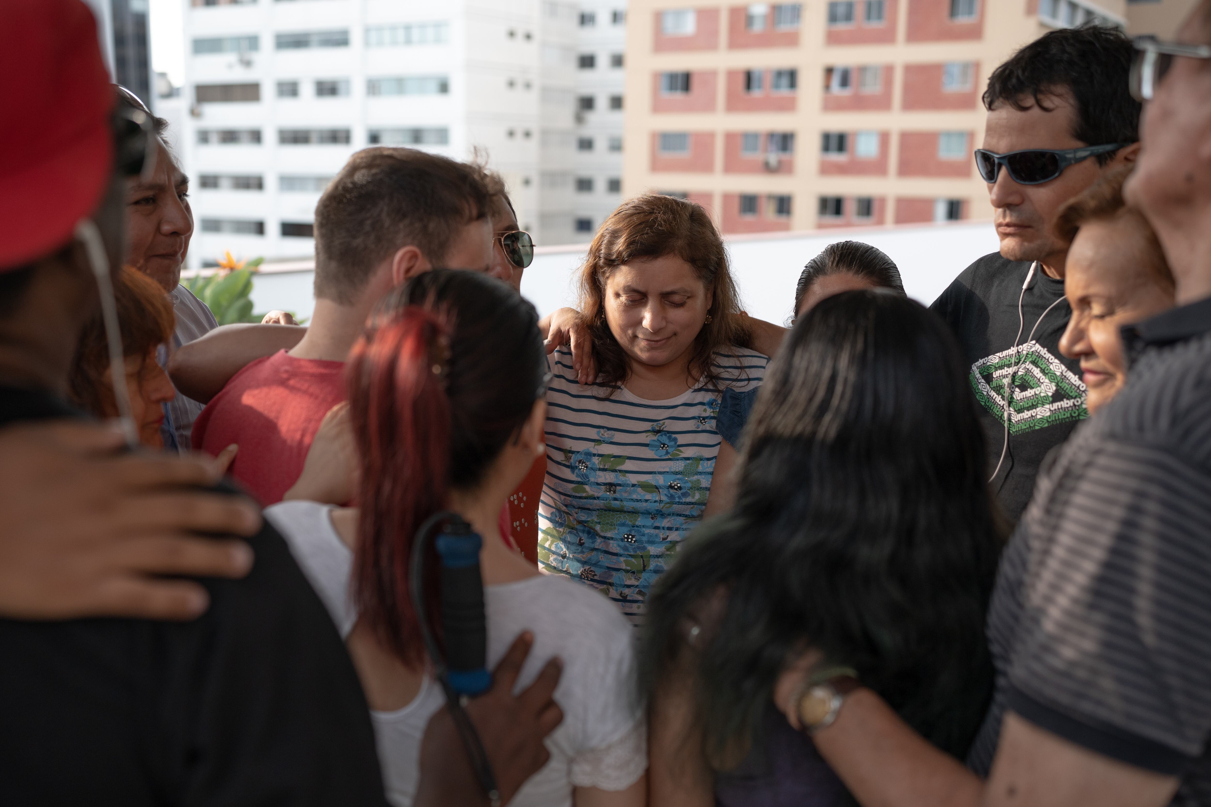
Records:
[[[480,166],[415,149],[355,154],[315,208],[315,295],[351,302],[409,244],[441,266],[459,229],[488,215],[486,180]]]

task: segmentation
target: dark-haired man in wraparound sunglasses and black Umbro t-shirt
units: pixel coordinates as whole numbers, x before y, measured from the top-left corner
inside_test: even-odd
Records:
[[[1068,242],[1056,212],[1103,173],[1135,160],[1140,103],[1127,91],[1131,41],[1118,29],[1056,30],[988,79],[975,162],[995,208],[1000,252],[960,273],[931,306],[970,367],[988,444],[989,482],[1011,521],[1043,457],[1089,413],[1078,363],[1058,340]]]

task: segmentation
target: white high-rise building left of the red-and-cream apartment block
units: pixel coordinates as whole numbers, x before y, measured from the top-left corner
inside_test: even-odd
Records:
[[[614,8],[595,10],[606,22],[595,27],[553,0],[182,1],[188,114],[176,142],[193,178],[190,267],[225,250],[310,256],[320,192],[368,145],[478,154],[540,244],[586,240],[576,219],[596,227],[620,198],[609,138],[622,128],[610,109],[622,70],[576,69],[581,38],[607,64],[622,52]],[[598,106],[578,119],[590,92]],[[566,148],[581,131],[601,148]],[[582,175],[592,191],[574,194]]]

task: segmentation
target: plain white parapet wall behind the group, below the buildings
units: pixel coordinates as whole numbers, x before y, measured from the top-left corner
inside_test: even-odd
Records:
[[[900,267],[905,290],[926,305],[971,261],[998,248],[991,221],[731,236],[728,253],[745,310],[761,319],[785,323],[803,265],[837,241],[863,241],[888,253]],[[535,250],[522,279],[522,294],[539,315],[575,304],[575,272],[586,250],[587,244]],[[252,293],[256,310],[282,309],[310,316],[312,278],[310,261],[265,264]]]

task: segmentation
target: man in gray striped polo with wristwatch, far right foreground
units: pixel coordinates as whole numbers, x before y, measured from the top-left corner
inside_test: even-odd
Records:
[[[1178,307],[1124,329],[1126,386],[1039,475],[1001,560],[997,692],[968,767],[865,687],[814,719],[810,679],[784,674],[779,707],[817,726],[863,805],[1211,805],[1211,0],[1177,44],[1137,48],[1126,192]]]

